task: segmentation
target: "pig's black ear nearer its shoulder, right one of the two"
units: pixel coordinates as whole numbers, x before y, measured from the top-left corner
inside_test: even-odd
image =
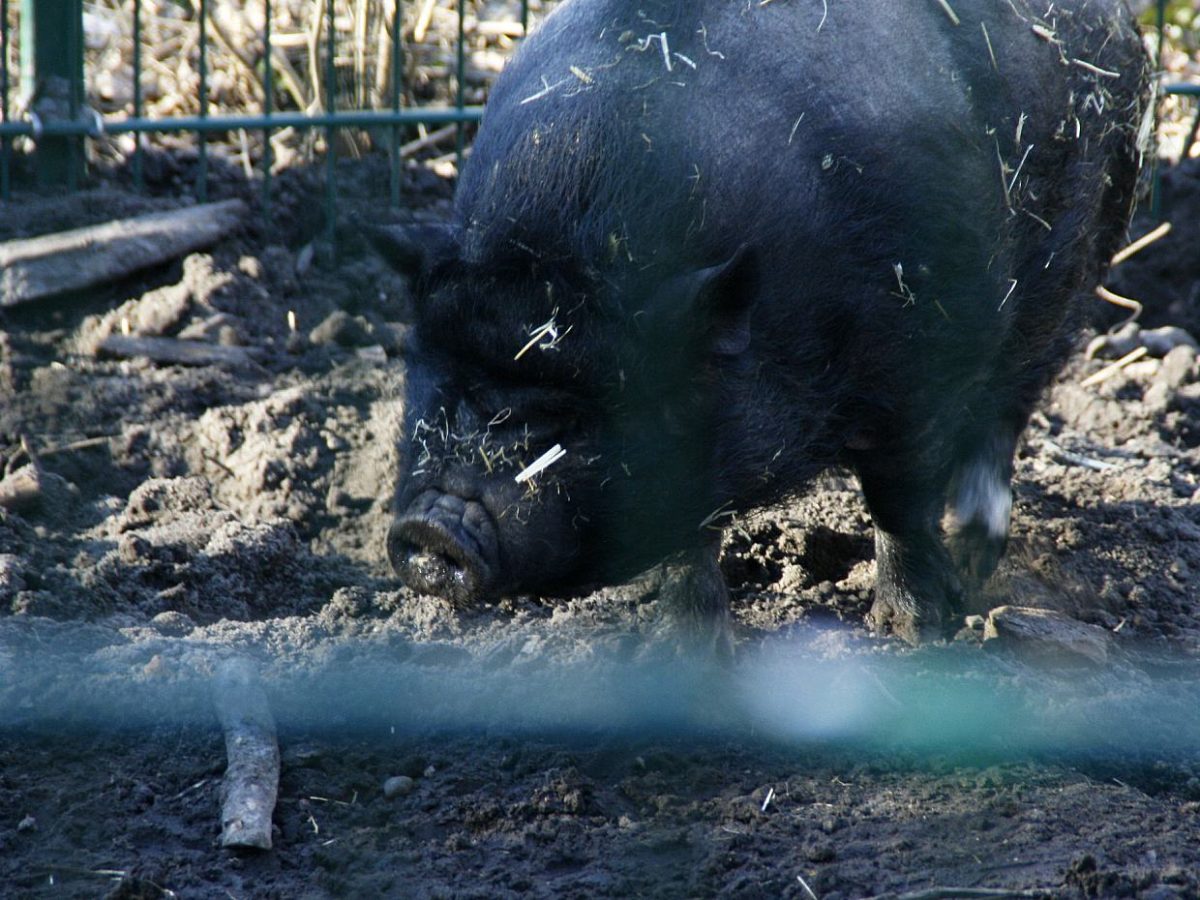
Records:
[[[724,263],[684,276],[689,319],[700,324],[718,356],[737,356],[750,347],[750,311],[757,294],[754,257],[743,244]]]

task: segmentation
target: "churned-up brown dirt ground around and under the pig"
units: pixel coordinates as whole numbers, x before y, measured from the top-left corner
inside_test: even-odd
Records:
[[[0,239],[170,208],[161,162],[148,194],[20,198]],[[385,169],[342,174],[347,223],[388,215]],[[336,263],[310,244],[316,178],[280,179],[270,239],[254,214],[0,313],[0,476],[36,475],[0,506],[0,894],[1200,896],[1193,349],[1091,386],[1081,350],[1020,451],[978,611],[1057,610],[1078,641],[868,635],[869,520],[833,473],[731,529],[738,661],[710,671],[643,641],[642,586],[463,612],[391,577],[407,286],[352,228]],[[439,216],[449,188],[414,167],[406,197]],[[1200,162],[1164,214],[1112,286],[1200,334]],[[121,332],[245,354],[101,352]],[[269,852],[217,840],[234,655],[280,728]]]

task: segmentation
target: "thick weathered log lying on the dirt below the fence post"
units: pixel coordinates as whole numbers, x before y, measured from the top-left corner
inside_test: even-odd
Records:
[[[154,212],[0,244],[0,307],[106,284],[206,247],[246,216],[241,200]]]

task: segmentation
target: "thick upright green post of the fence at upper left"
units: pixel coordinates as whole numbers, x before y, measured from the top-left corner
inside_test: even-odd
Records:
[[[22,0],[20,47],[26,109],[43,126],[77,120],[83,107],[83,1]],[[36,139],[38,186],[73,188],[83,175],[82,139]]]

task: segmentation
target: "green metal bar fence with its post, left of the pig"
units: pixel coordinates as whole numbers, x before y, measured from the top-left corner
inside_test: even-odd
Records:
[[[14,121],[12,110],[12,29],[10,28],[12,2],[18,2],[20,23],[20,72],[23,90],[36,85],[36,102],[22,120]],[[396,0],[390,31],[391,78],[390,103],[382,109],[338,109],[335,90],[335,54],[337,30],[335,28],[335,0],[319,0],[325,17],[324,32],[324,96],[325,108],[320,113],[281,110],[275,98],[275,72],[272,70],[274,20],[272,0],[262,0],[265,23],[263,40],[263,108],[257,114],[211,115],[209,112],[209,24],[211,0],[197,0],[196,16],[199,26],[199,114],[173,118],[145,115],[143,91],[142,28],[143,2],[132,0],[133,59],[132,59],[132,115],[126,118],[102,118],[86,107],[83,77],[83,0],[0,0],[0,200],[8,200],[12,192],[13,158],[12,142],[17,137],[29,137],[36,144],[36,172],[40,185],[78,186],[83,174],[83,140],[101,136],[145,133],[191,133],[197,139],[198,160],[194,192],[204,200],[209,190],[208,138],[214,132],[254,130],[263,132],[264,152],[260,161],[262,198],[264,210],[271,205],[271,134],[282,128],[324,130],[326,166],[326,216],[330,224],[336,198],[336,142],[335,134],[342,128],[383,130],[389,133],[391,162],[391,200],[400,204],[401,191],[401,130],[414,125],[457,124],[457,154],[462,161],[464,149],[463,126],[480,119],[482,109],[464,102],[466,83],[466,18],[467,0],[457,4],[457,48],[455,54],[455,97],[445,106],[402,104],[403,54],[401,26],[404,2]],[[528,30],[529,0],[520,4],[521,31]],[[49,115],[40,110],[49,110]],[[140,138],[136,143],[131,169],[134,184],[140,186],[144,170],[144,146]]]

